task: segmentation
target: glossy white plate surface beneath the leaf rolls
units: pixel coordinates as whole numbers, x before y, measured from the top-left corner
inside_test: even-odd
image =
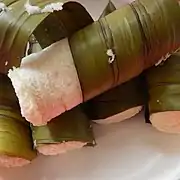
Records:
[[[80,0],[94,19],[107,0]],[[128,0],[116,0],[118,6]],[[94,8],[96,7],[96,8]],[[0,180],[178,180],[180,135],[158,132],[142,115],[94,127],[95,148],[38,157],[23,168],[0,169]]]

